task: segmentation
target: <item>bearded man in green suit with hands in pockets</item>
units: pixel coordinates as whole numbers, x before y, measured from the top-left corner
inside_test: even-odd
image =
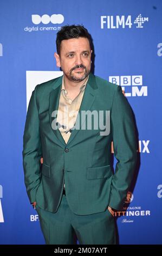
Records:
[[[114,211],[122,210],[137,161],[132,110],[120,86],[90,72],[85,27],[62,27],[56,46],[63,76],[37,85],[28,107],[27,193],[47,244],[74,244],[74,234],[80,244],[115,244]]]

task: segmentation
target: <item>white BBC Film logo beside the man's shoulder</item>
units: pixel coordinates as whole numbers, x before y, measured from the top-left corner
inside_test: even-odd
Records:
[[[147,86],[142,86],[142,76],[109,76],[109,82],[122,87],[127,97],[147,96]]]

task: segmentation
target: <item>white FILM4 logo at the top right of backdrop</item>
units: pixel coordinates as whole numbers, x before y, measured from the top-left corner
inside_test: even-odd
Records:
[[[133,23],[131,15],[103,15],[100,17],[101,29],[132,28],[132,26],[135,26],[136,28],[144,28],[143,25],[145,22],[148,22],[148,17],[142,17],[141,14],[135,18]]]

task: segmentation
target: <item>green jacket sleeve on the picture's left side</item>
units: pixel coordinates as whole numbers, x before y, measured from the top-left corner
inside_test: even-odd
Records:
[[[33,91],[25,121],[23,135],[23,169],[25,186],[30,203],[36,200],[36,190],[41,181],[42,146],[39,129],[38,109],[36,104],[36,91]]]

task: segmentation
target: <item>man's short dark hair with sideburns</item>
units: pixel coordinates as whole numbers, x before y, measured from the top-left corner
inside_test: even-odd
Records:
[[[90,49],[92,50],[92,37],[88,33],[87,29],[81,25],[66,25],[61,27],[61,30],[57,32],[56,49],[60,55],[61,41],[72,38],[87,38],[89,40]]]

